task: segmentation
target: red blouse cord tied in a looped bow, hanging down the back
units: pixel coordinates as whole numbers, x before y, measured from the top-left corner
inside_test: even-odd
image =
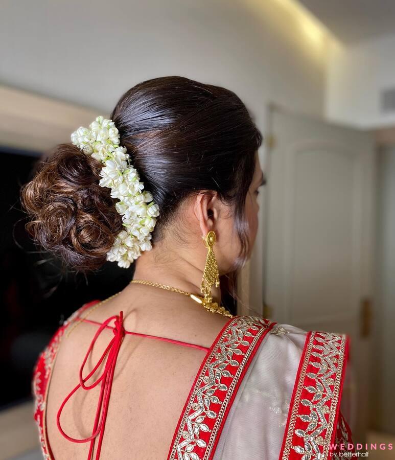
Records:
[[[110,321],[115,319],[115,324],[114,328],[112,329],[114,336],[110,340],[107,348],[104,350],[102,356],[100,357],[99,361],[95,365],[94,369],[86,376],[82,377],[83,370],[85,363],[88,359],[89,354],[91,353],[94,344],[101,334],[101,332],[108,327],[108,324]],[[96,452],[96,460],[98,460],[100,456],[100,450],[102,446],[102,441],[103,441],[103,434],[104,434],[104,427],[105,427],[105,421],[107,417],[107,411],[108,411],[108,403],[110,399],[110,393],[111,393],[111,386],[112,386],[112,380],[114,376],[114,370],[115,370],[115,364],[117,362],[117,356],[121,347],[121,343],[123,340],[123,337],[125,336],[125,329],[123,327],[123,312],[120,311],[119,315],[113,315],[107,318],[99,329],[97,330],[94,338],[92,339],[90,346],[88,348],[88,351],[85,355],[85,358],[82,362],[82,365],[80,367],[80,372],[79,372],[79,380],[80,382],[78,385],[72,389],[72,391],[65,397],[64,401],[62,402],[61,406],[59,407],[58,413],[57,413],[57,418],[56,422],[58,425],[58,429],[61,432],[61,434],[66,438],[68,441],[71,441],[73,443],[87,443],[90,441],[90,447],[89,447],[89,453],[88,453],[88,460],[92,458],[92,452],[95,446],[95,439],[96,436],[100,433],[99,435],[99,442],[98,442],[98,448]],[[107,356],[105,366],[103,373],[100,377],[97,378],[93,383],[91,384],[85,384],[85,382],[97,371],[98,367],[101,365],[105,357]],[[89,438],[83,438],[83,439],[76,439],[72,438],[68,434],[66,434],[62,427],[60,426],[60,414],[63,410],[64,405],[67,403],[67,401],[74,395],[74,393],[78,390],[78,388],[82,388],[84,390],[89,390],[92,388],[95,388],[98,384],[100,385],[100,395],[99,395],[99,401],[96,409],[96,417],[95,417],[95,423],[94,427],[92,429],[92,434],[89,436]]]

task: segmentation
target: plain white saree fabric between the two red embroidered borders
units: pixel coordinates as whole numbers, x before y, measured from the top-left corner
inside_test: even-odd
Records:
[[[239,387],[214,460],[278,460],[306,332],[273,328]],[[247,456],[245,457],[245,455]]]

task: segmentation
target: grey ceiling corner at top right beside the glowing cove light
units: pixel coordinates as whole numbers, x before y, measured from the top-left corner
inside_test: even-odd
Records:
[[[341,42],[395,33],[394,0],[298,0]]]

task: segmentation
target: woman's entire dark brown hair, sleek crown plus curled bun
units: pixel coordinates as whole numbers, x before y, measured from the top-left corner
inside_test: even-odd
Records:
[[[129,89],[109,118],[159,206],[152,243],[184,198],[213,190],[234,205],[237,270],[249,250],[244,204],[262,143],[238,96],[188,78],[155,78]],[[60,144],[21,194],[35,241],[80,271],[99,268],[122,229],[110,189],[99,186],[101,167],[78,147]]]

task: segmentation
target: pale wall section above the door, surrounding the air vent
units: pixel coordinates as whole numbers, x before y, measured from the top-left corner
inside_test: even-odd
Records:
[[[326,116],[361,128],[395,124],[380,108],[383,89],[395,88],[395,34],[350,47],[333,45],[328,60]]]

